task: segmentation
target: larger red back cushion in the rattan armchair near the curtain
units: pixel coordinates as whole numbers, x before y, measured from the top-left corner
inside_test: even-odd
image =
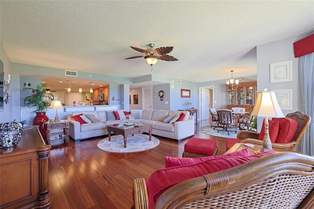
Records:
[[[288,143],[292,141],[292,138],[298,128],[298,122],[289,117],[285,118],[273,118],[273,121],[279,122],[279,133],[276,143]]]

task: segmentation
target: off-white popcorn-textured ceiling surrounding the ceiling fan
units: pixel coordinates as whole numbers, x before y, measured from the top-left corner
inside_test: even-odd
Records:
[[[173,46],[154,74],[203,82],[254,76],[256,46],[314,29],[314,1],[0,0],[11,62],[136,78],[142,55]]]

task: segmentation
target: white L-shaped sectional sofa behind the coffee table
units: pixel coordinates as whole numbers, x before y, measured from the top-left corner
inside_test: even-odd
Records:
[[[68,116],[70,121],[69,135],[75,141],[88,139],[96,136],[107,135],[107,125],[123,123],[125,117],[124,111],[131,112],[131,115],[135,117],[135,122],[142,123],[144,125],[152,125],[152,134],[157,136],[163,136],[176,141],[181,141],[184,138],[194,135],[194,116],[190,115],[188,111],[172,111],[172,110],[117,110],[120,116],[120,120],[112,120],[108,117],[112,110],[106,111],[77,111],[73,112],[72,116],[79,114],[93,114],[100,122],[80,124],[75,121],[72,116]],[[164,123],[163,120],[170,115],[184,113],[183,121],[175,123]],[[111,114],[111,113],[110,113]],[[108,117],[108,118],[107,118]]]

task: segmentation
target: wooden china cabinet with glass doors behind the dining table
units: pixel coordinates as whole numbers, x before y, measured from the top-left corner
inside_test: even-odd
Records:
[[[239,83],[237,86],[227,86],[227,109],[244,107],[246,112],[252,112],[257,98],[257,81]]]

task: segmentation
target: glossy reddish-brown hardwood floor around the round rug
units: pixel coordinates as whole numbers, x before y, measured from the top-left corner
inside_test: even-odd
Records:
[[[209,120],[198,121],[195,137],[215,139],[218,155],[225,153],[226,138],[210,136],[198,131]],[[175,142],[156,136],[160,144],[139,153],[116,154],[98,149],[104,137],[81,142],[70,139],[51,141],[49,184],[52,209],[130,209],[132,181],[145,179],[157,169],[164,168],[164,157],[182,157],[187,139]]]

